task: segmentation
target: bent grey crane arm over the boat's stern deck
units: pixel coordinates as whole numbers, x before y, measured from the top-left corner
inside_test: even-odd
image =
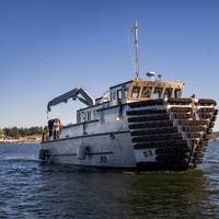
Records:
[[[81,95],[81,96],[79,96],[79,95]],[[88,106],[94,105],[93,97],[87,91],[84,91],[83,89],[73,89],[73,90],[49,101],[48,105],[47,105],[47,111],[50,112],[51,106],[55,106],[59,103],[67,103],[69,99],[72,99],[73,101],[76,101],[78,99],[79,101],[81,101],[82,103],[84,103]]]

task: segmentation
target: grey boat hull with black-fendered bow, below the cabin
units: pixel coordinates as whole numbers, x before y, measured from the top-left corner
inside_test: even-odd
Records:
[[[196,168],[216,120],[215,105],[211,100],[173,99],[101,108],[99,119],[70,126],[60,139],[42,142],[39,158],[141,171]]]

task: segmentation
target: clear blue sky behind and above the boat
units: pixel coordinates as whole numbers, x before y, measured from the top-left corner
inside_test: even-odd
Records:
[[[161,72],[219,103],[217,0],[0,0],[0,126],[46,125],[50,99],[80,87],[99,97],[132,79],[135,20],[142,78]],[[81,106],[50,116],[72,123]]]

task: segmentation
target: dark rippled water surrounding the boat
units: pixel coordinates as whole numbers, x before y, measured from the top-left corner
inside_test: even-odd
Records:
[[[42,165],[37,152],[0,145],[0,218],[219,218],[219,142],[181,173]]]

